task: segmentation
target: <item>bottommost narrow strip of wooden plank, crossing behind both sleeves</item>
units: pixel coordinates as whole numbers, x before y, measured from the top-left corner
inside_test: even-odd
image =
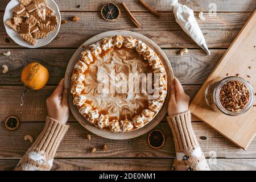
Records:
[[[207,159],[209,162],[209,159]],[[19,159],[0,159],[0,171],[13,170]],[[52,171],[170,171],[174,159],[55,159]],[[212,171],[255,171],[256,159],[216,159]]]

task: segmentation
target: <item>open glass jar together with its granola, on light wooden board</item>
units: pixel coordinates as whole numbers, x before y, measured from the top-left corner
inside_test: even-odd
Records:
[[[253,106],[253,86],[236,76],[213,81],[205,90],[207,105],[219,113],[241,115]]]

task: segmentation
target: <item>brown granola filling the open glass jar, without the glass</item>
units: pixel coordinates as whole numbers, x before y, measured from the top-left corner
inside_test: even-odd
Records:
[[[221,105],[229,111],[237,112],[245,108],[250,99],[250,93],[245,84],[237,80],[226,82],[220,91]]]

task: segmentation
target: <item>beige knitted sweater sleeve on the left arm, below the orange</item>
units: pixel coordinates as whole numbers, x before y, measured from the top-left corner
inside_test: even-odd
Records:
[[[69,126],[47,117],[46,125],[35,143],[28,149],[16,166],[16,171],[47,171]]]

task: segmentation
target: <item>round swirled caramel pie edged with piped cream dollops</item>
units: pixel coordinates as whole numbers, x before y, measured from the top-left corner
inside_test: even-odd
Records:
[[[116,35],[81,52],[71,77],[73,104],[92,125],[110,132],[152,121],[167,94],[164,65],[141,40]]]

